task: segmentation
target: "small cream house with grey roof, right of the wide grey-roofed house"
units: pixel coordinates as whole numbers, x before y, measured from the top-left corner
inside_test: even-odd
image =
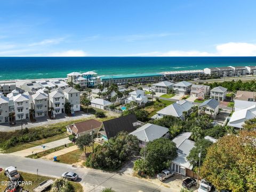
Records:
[[[208,99],[201,103],[199,106],[199,113],[205,113],[210,115],[212,118],[215,118],[219,113],[219,102],[215,99]]]

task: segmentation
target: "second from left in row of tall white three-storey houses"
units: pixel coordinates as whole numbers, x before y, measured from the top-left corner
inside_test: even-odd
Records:
[[[16,121],[29,118],[29,97],[25,94],[18,94],[13,97]]]

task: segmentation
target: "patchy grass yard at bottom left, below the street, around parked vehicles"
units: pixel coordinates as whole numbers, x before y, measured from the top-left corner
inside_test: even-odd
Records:
[[[37,178],[36,174],[24,173],[24,172],[20,172],[20,171],[19,171],[19,173],[21,175],[21,179],[20,179],[21,181],[27,181],[27,182],[31,181],[31,185],[22,186],[22,187],[24,187],[23,188],[24,190],[33,191],[33,189],[36,188],[41,182],[43,182],[45,180],[49,180],[49,179],[54,180],[54,178],[45,177],[42,175],[38,175],[38,178]],[[35,173],[36,173],[36,170],[35,170]],[[38,170],[38,174],[39,173],[40,173],[40,170]],[[4,174],[1,175],[0,180],[1,181],[9,181]],[[81,186],[80,183],[71,182],[71,181],[69,181],[69,183],[74,187],[76,192],[83,192],[83,187]],[[4,189],[6,187],[7,186],[0,185],[0,191],[4,191]],[[50,189],[44,190],[44,191],[50,191]]]

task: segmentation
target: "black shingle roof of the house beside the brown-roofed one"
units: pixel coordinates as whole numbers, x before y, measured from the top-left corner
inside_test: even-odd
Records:
[[[134,114],[110,119],[102,122],[107,138],[115,137],[119,132],[125,131],[131,133],[135,130],[133,123],[137,122],[137,118]]]

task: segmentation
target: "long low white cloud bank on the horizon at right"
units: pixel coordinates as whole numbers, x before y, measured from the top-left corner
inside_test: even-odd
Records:
[[[252,43],[224,43],[219,44],[215,47],[215,52],[205,52],[205,51],[181,51],[173,50],[168,52],[148,52],[148,53],[136,53],[126,56],[148,56],[148,57],[236,57],[236,56],[256,56],[256,44]]]

